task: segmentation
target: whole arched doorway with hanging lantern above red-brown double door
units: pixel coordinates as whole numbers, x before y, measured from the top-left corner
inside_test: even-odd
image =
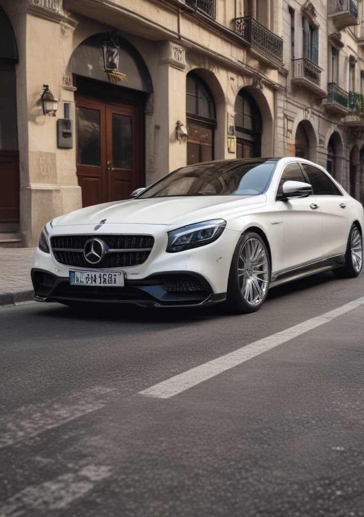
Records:
[[[127,199],[144,184],[144,110],[153,91],[147,66],[127,40],[105,33],[77,47],[69,72],[77,86],[82,205]]]

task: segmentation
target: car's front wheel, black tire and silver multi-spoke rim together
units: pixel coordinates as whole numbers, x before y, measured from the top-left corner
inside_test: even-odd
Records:
[[[257,311],[267,297],[270,273],[264,240],[257,233],[244,233],[232,255],[226,308],[238,314]]]

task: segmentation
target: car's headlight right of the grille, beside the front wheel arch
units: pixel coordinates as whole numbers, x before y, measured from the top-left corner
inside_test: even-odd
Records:
[[[224,219],[213,219],[201,223],[183,226],[177,230],[168,232],[168,253],[190,250],[210,244],[218,239],[226,226]]]

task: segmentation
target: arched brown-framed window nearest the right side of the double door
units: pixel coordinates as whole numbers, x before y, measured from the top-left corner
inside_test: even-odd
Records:
[[[187,165],[214,159],[215,107],[205,83],[194,72],[186,80]]]

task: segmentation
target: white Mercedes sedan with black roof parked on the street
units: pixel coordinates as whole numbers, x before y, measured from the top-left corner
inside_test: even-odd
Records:
[[[363,207],[300,158],[183,167],[42,229],[35,299],[256,311],[275,285],[362,267]]]

